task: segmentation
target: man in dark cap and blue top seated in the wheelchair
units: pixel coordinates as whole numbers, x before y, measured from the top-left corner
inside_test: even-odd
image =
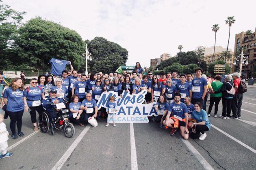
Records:
[[[46,109],[52,119],[59,117],[59,112],[61,111],[61,109],[56,108],[55,104],[63,102],[63,98],[56,98],[56,94],[56,89],[52,89],[49,97],[42,101],[43,108]]]

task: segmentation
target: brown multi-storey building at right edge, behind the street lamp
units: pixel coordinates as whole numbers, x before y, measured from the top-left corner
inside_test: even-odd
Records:
[[[253,68],[256,65],[256,37],[255,37],[255,31],[252,33],[250,37],[246,36],[246,32],[241,32],[239,34],[236,34],[235,36],[235,45],[234,45],[234,53],[236,53],[236,50],[239,47],[244,47],[244,49],[247,49],[247,52],[244,53],[244,56],[247,55],[248,57],[248,65],[245,66],[245,62],[242,65],[242,73],[245,73],[245,78],[250,78],[253,75]],[[233,67],[232,72],[239,72],[240,64],[239,62],[236,62],[237,64]]]

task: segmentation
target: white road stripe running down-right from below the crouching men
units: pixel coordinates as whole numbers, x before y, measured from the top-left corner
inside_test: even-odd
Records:
[[[204,157],[193,147],[193,145],[188,141],[184,140],[180,135],[178,135],[182,142],[187,146],[187,148],[193,153],[195,158],[200,162],[200,164],[206,169],[206,170],[214,170],[212,166],[204,159]]]

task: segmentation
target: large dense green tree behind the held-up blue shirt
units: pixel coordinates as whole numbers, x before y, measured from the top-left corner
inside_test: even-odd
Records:
[[[52,58],[71,61],[75,69],[84,64],[85,43],[74,30],[37,17],[20,27],[19,34],[19,57],[30,66],[47,70]]]

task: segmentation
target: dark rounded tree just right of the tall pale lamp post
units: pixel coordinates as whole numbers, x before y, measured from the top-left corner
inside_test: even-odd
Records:
[[[88,62],[89,70],[93,72],[114,72],[120,65],[125,65],[128,51],[103,37],[95,37],[88,41],[92,61]]]

